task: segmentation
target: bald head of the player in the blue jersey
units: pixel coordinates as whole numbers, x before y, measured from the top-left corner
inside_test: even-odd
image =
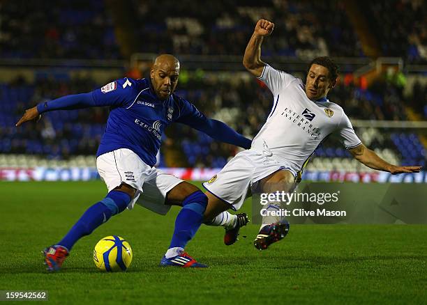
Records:
[[[151,84],[160,100],[166,100],[177,88],[179,60],[171,54],[157,56],[151,68]]]

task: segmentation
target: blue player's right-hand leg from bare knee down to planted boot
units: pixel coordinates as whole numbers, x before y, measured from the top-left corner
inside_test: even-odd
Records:
[[[160,266],[207,267],[197,263],[185,251],[186,244],[194,237],[202,225],[207,196],[194,185],[181,182],[167,194],[170,203],[181,202],[182,208],[175,219],[174,234],[170,247],[160,260]]]

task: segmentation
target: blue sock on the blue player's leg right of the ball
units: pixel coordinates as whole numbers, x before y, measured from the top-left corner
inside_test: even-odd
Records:
[[[202,191],[195,191],[182,202],[182,209],[175,220],[174,235],[170,242],[170,249],[186,247],[194,237],[203,221],[203,213],[207,207],[208,198]]]

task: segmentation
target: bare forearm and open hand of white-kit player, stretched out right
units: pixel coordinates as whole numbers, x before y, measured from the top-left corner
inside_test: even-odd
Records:
[[[396,175],[398,173],[419,173],[422,166],[396,166],[389,164],[381,159],[373,150],[366,148],[364,144],[350,149],[350,153],[357,161],[365,164],[371,169],[377,169],[379,171],[388,171],[389,173]]]

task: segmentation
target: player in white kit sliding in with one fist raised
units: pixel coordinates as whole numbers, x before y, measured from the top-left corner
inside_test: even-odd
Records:
[[[210,225],[225,226],[226,244],[234,243],[240,226],[246,224],[226,210],[239,210],[250,196],[250,190],[293,191],[308,159],[333,132],[340,135],[343,145],[355,159],[372,169],[392,174],[414,173],[421,169],[421,166],[389,164],[361,143],[343,108],[327,99],[338,77],[338,66],[331,58],[319,57],[310,63],[306,84],[264,63],[261,60],[262,40],[273,29],[272,22],[265,19],[257,22],[243,61],[246,69],[263,81],[274,95],[267,121],[253,139],[250,150],[237,154],[203,184],[209,198],[205,219]],[[280,203],[264,206],[269,216],[262,218],[260,233],[254,242],[257,249],[267,249],[269,244],[287,234],[287,221],[269,213],[279,208]]]

